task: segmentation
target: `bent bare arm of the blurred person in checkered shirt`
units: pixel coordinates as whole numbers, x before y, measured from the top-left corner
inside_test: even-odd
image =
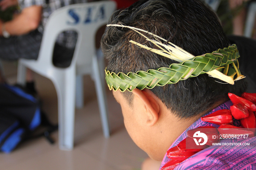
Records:
[[[3,27],[10,35],[22,35],[35,30],[40,24],[41,13],[41,6],[33,5],[24,8],[13,20],[0,22],[0,35],[3,35]]]

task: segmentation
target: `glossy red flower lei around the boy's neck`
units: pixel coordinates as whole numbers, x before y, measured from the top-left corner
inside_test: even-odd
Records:
[[[242,93],[241,97],[236,94],[228,94],[233,105],[229,109],[222,109],[211,113],[210,115],[201,117],[202,121],[207,121],[220,125],[219,128],[213,126],[198,127],[187,132],[187,137],[182,140],[177,146],[170,148],[167,151],[167,157],[171,160],[167,162],[161,170],[173,170],[177,165],[185,159],[191,157],[195,153],[203,150],[212,145],[212,143],[219,142],[219,138],[211,139],[212,135],[248,135],[249,137],[255,136],[256,128],[256,93]],[[233,117],[240,120],[241,127],[233,124]],[[198,147],[193,139],[196,132],[203,132],[208,140],[207,142]],[[210,140],[209,140],[210,139]],[[199,141],[200,142],[200,141]],[[186,148],[186,143],[189,148]]]

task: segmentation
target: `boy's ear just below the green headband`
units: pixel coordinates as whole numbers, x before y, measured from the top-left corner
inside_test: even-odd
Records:
[[[140,105],[137,108],[142,108],[143,113],[146,113],[146,124],[153,126],[157,122],[160,112],[159,99],[149,89],[133,89],[132,93],[135,95],[135,103]]]

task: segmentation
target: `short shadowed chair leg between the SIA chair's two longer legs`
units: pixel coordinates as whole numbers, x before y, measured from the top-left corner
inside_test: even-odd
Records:
[[[83,76],[76,76],[76,108],[83,108],[84,97],[83,97]]]

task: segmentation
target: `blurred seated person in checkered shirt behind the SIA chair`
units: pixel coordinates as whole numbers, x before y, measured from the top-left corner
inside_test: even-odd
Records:
[[[0,59],[37,59],[44,26],[50,14],[66,5],[86,2],[87,0],[1,0],[1,11],[11,7],[18,7],[18,11],[9,20],[0,19]],[[59,35],[53,54],[55,66],[70,65],[76,39],[77,34],[72,31]],[[35,93],[31,71],[27,73],[27,88]]]

